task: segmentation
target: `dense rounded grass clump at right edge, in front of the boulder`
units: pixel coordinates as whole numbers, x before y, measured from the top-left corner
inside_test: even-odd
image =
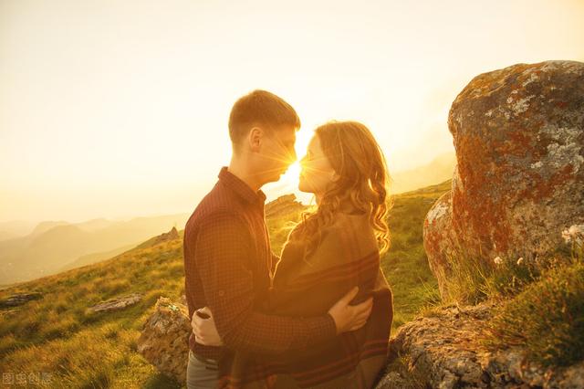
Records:
[[[497,310],[483,340],[491,350],[524,346],[530,361],[568,366],[584,360],[584,260],[552,262]]]

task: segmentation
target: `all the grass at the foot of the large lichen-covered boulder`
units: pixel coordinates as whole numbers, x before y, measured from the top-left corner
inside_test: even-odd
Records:
[[[546,367],[584,360],[581,243],[562,244],[543,258],[486,263],[460,255],[448,264],[443,304],[497,302],[494,319],[479,339],[487,349],[522,346],[527,360]]]

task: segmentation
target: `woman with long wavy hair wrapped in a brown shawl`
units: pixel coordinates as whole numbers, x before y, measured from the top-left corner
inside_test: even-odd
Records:
[[[322,315],[357,286],[354,303],[373,297],[370,318],[303,352],[236,355],[245,371],[220,377],[221,387],[370,388],[385,366],[393,301],[380,268],[390,247],[381,148],[360,122],[332,121],[316,129],[300,164],[299,189],[313,193],[318,208],[288,235],[265,310]]]

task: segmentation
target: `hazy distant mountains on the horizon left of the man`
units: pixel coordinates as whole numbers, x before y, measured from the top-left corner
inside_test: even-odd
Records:
[[[0,242],[0,285],[54,274],[74,261],[83,266],[110,258],[112,252],[122,247],[137,245],[169,231],[172,226],[183,227],[189,216],[137,217],[115,222],[94,219],[78,224],[40,223],[26,237]],[[89,254],[94,257],[81,258]]]

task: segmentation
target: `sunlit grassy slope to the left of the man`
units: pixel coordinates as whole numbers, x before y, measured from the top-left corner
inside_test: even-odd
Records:
[[[136,352],[136,341],[158,297],[183,294],[182,250],[182,240],[176,239],[3,290],[3,295],[38,290],[44,296],[5,314],[2,373],[46,373],[49,387],[143,387],[149,382],[151,387],[180,387]],[[87,310],[132,292],[143,293],[144,299],[126,310]]]

